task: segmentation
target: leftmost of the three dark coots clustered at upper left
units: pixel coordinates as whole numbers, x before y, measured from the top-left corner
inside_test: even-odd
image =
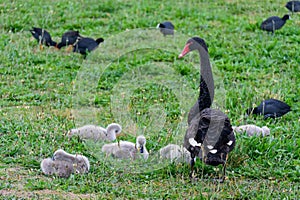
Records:
[[[52,40],[50,33],[48,31],[46,31],[45,29],[32,27],[30,32],[31,32],[32,36],[40,44],[40,49],[43,48],[43,46],[42,46],[43,44],[46,45],[47,47],[49,47],[49,46],[56,47],[57,43]]]

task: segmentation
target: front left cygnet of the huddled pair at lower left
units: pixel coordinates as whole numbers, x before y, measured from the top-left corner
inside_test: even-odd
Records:
[[[68,178],[74,172],[74,167],[71,162],[52,160],[51,158],[42,160],[41,169],[45,175],[55,175],[61,178]]]

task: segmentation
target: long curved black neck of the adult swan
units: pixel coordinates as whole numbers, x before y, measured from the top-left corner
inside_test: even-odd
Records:
[[[214,80],[207,51],[200,47],[200,94],[198,98],[199,111],[209,108],[214,99]]]

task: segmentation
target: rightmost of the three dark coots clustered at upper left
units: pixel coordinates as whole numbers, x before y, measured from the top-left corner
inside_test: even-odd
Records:
[[[86,56],[87,53],[96,49],[98,45],[103,41],[103,38],[98,38],[96,40],[92,38],[81,38],[77,43],[74,44],[73,52],[78,52]]]

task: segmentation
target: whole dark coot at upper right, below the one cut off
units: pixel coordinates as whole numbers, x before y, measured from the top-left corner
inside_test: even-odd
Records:
[[[288,19],[290,19],[289,15],[284,15],[282,18],[272,16],[263,21],[260,28],[264,31],[274,33],[275,30],[282,28]]]

